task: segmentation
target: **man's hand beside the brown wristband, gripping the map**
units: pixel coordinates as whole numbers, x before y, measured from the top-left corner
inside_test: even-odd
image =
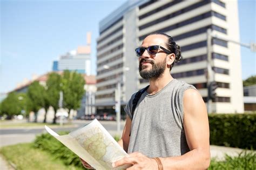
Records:
[[[153,158],[148,158],[142,153],[134,152],[129,154],[130,157],[125,157],[113,163],[113,167],[122,166],[125,164],[132,165],[127,170],[132,169],[158,169],[157,161]]]

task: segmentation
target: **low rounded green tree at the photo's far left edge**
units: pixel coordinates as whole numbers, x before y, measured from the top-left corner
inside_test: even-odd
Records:
[[[1,103],[2,114],[6,114],[9,117],[21,113],[21,106],[19,105],[19,99],[16,92],[11,92]]]

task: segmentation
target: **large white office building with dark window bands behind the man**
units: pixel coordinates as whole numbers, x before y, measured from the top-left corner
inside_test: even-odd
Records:
[[[134,49],[151,32],[165,32],[184,57],[171,74],[197,87],[207,102],[207,29],[211,29],[212,79],[217,97],[212,112],[242,113],[242,79],[237,1],[127,1],[99,23],[97,39],[97,112],[111,112],[114,90],[122,82],[122,105],[148,82],[139,76]],[[210,56],[209,55],[209,56]]]

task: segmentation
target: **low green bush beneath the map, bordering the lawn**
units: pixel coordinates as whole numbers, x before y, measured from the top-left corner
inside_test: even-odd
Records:
[[[62,132],[60,134],[67,134],[67,132]],[[74,165],[83,168],[79,157],[48,133],[38,135],[33,142],[33,145],[36,148],[41,148],[44,151],[50,152],[56,159],[61,159],[65,165]]]

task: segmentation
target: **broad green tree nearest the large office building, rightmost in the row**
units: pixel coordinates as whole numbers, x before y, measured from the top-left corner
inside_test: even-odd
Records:
[[[85,80],[82,74],[65,70],[62,78],[64,107],[70,111],[80,107],[84,96]]]

